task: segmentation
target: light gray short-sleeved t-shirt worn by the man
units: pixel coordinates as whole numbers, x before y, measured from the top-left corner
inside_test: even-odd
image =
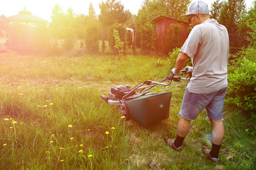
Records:
[[[192,59],[189,92],[208,94],[228,86],[229,36],[224,25],[214,19],[196,25],[180,52]]]

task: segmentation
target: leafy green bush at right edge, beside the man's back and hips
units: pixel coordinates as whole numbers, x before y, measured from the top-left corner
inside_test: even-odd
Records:
[[[255,53],[254,53],[255,55]],[[227,103],[236,104],[245,111],[256,111],[256,63],[244,57],[240,67],[228,75]]]

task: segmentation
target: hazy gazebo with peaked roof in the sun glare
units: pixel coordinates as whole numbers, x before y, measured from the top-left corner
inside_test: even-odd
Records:
[[[26,53],[27,51],[36,50],[40,44],[38,41],[39,32],[38,25],[46,25],[47,20],[31,15],[26,8],[19,11],[19,14],[9,16],[4,20],[9,25],[7,34],[7,48],[17,50],[18,52]],[[46,26],[44,26],[46,28]]]

